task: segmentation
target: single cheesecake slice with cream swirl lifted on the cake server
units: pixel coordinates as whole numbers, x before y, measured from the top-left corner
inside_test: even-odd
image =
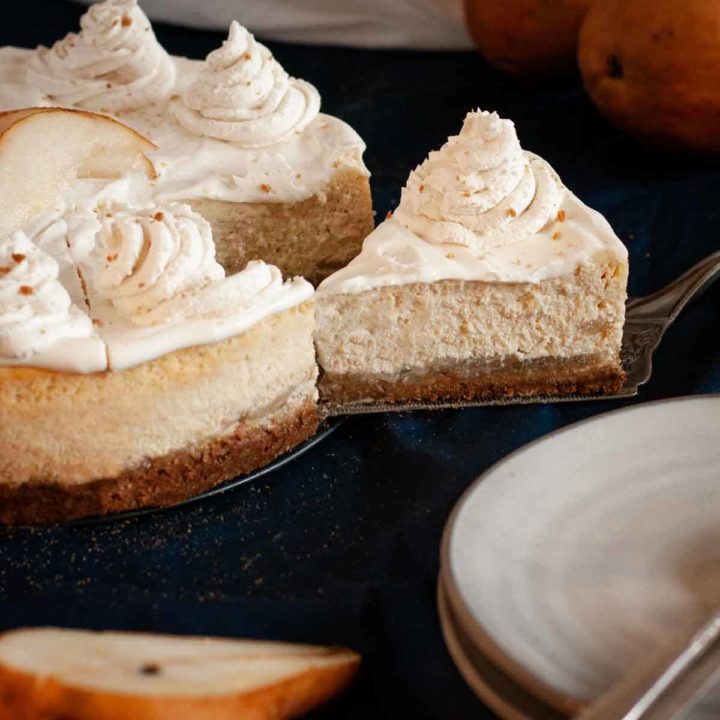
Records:
[[[627,251],[513,124],[471,112],[317,293],[331,405],[609,393]]]

